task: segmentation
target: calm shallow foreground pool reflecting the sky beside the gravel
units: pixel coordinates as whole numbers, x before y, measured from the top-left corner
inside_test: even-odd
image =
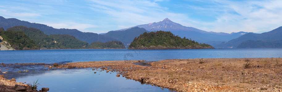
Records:
[[[86,70],[87,69],[87,70]],[[97,73],[94,73],[97,72]],[[67,69],[53,71],[31,71],[22,73],[8,73],[10,78],[16,78],[17,82],[40,83],[38,87],[50,88],[50,92],[97,92],[97,91],[125,91],[125,92],[175,92],[169,89],[161,89],[151,84],[141,84],[124,77],[116,77],[116,72],[84,69]]]

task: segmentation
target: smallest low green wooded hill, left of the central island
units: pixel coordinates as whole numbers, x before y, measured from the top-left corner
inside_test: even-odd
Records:
[[[90,49],[124,49],[124,45],[121,41],[109,41],[109,42],[92,42],[89,46]]]

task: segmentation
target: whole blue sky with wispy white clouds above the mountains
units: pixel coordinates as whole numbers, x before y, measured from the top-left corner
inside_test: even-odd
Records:
[[[268,32],[282,26],[282,0],[2,0],[0,16],[54,28],[107,33],[166,17],[213,32]]]

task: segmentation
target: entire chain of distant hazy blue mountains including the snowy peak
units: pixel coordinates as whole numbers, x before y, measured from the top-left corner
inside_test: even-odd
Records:
[[[277,48],[277,44],[280,43],[281,39],[281,30],[279,27],[270,32],[256,34],[256,33],[247,33],[247,32],[238,32],[238,33],[217,33],[217,32],[207,32],[193,27],[186,27],[170,21],[166,18],[159,22],[137,25],[126,29],[120,29],[116,31],[109,31],[108,33],[85,33],[78,31],[77,29],[55,29],[53,27],[38,24],[30,23],[27,21],[21,21],[15,18],[4,18],[0,16],[0,27],[4,29],[23,25],[26,27],[32,27],[40,29],[45,34],[69,34],[75,36],[78,40],[86,41],[92,43],[95,41],[99,42],[108,42],[108,41],[121,41],[124,43],[125,48],[128,48],[128,45],[133,41],[135,37],[143,34],[144,32],[150,31],[170,31],[175,35],[180,37],[191,38],[199,43],[210,44],[214,48],[258,48],[252,46],[252,44],[265,44],[265,47],[274,47]],[[252,43],[252,44],[251,44]],[[270,44],[272,43],[272,45]],[[260,45],[259,48],[263,47]],[[279,46],[278,46],[279,47]]]

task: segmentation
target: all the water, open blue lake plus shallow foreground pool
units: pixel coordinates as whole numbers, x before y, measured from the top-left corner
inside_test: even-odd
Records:
[[[74,50],[20,50],[0,51],[0,63],[67,63],[104,60],[146,60],[193,59],[193,58],[271,58],[282,57],[281,48],[252,49],[184,49],[184,50],[127,50],[127,49],[74,49]],[[32,66],[33,67],[33,66]],[[12,67],[11,67],[12,68]],[[15,71],[29,70],[31,67],[19,67]],[[37,67],[38,68],[38,67]],[[5,67],[0,67],[5,71]],[[12,70],[12,69],[10,69]],[[167,92],[160,87],[141,84],[124,77],[116,77],[116,73],[86,69],[67,69],[53,71],[10,72],[9,79],[17,82],[32,83],[39,79],[39,89],[49,87],[53,92],[85,92],[85,91],[154,91]],[[3,75],[1,73],[1,75]]]

